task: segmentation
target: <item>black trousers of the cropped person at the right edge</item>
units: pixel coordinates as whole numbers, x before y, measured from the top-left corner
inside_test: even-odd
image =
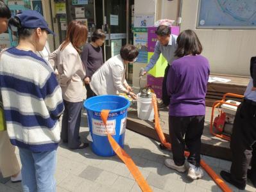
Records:
[[[251,163],[252,180],[256,183],[256,106],[243,102],[237,108],[230,148],[232,151],[232,179],[246,184]]]

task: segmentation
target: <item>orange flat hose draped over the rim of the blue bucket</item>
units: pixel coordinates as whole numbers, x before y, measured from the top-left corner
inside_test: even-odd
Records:
[[[103,121],[103,124],[106,127],[107,119],[108,119],[108,113],[110,110],[102,110],[101,111],[101,119]],[[107,130],[107,127],[106,127]],[[108,132],[107,132],[108,133]],[[141,172],[135,165],[135,163],[132,161],[132,158],[126,154],[126,152],[121,148],[118,143],[112,138],[112,136],[108,133],[108,141],[113,148],[114,152],[117,154],[117,156],[126,164],[127,168],[130,170],[130,172],[133,175],[133,178],[139,185],[142,191],[151,192],[152,189],[150,188],[149,184],[146,182],[144,177],[142,176]]]

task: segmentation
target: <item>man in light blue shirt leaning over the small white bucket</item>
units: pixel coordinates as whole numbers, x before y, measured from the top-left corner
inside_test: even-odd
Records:
[[[155,31],[157,34],[157,44],[155,45],[155,50],[153,56],[150,58],[150,61],[148,65],[145,68],[145,72],[143,73],[146,74],[151,68],[155,66],[155,63],[157,63],[157,60],[162,53],[164,58],[166,58],[168,65],[166,67],[166,70],[164,72],[164,79],[162,83],[162,101],[164,105],[162,107],[166,107],[169,105],[170,99],[169,96],[167,95],[167,90],[166,90],[166,79],[167,79],[167,74],[169,71],[169,67],[171,63],[173,63],[173,60],[175,60],[175,50],[176,50],[176,35],[171,35],[171,29],[169,26],[158,26],[157,30]]]

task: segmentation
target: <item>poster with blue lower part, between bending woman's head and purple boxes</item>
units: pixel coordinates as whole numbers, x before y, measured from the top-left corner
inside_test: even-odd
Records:
[[[139,49],[137,62],[148,63],[148,32],[146,28],[134,28],[133,45]]]

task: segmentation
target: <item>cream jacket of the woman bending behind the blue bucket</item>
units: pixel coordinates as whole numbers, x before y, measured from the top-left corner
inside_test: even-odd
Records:
[[[93,75],[90,88],[96,95],[117,95],[126,91],[125,65],[120,55],[107,60]]]

